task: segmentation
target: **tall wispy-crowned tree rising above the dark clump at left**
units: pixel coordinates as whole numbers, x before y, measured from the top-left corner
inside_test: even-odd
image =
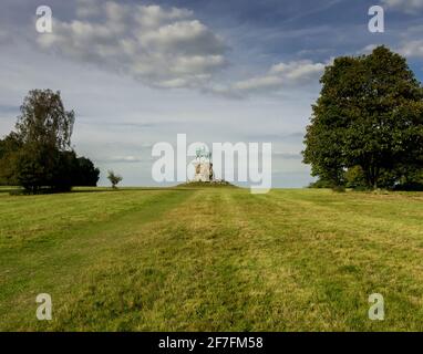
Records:
[[[70,190],[74,112],[65,111],[60,92],[51,90],[30,91],[20,111],[16,134],[22,146],[14,162],[16,180],[31,192],[45,187]]]

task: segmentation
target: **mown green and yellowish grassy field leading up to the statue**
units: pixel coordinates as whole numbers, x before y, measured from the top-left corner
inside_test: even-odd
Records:
[[[422,331],[423,194],[1,189],[0,330]]]

